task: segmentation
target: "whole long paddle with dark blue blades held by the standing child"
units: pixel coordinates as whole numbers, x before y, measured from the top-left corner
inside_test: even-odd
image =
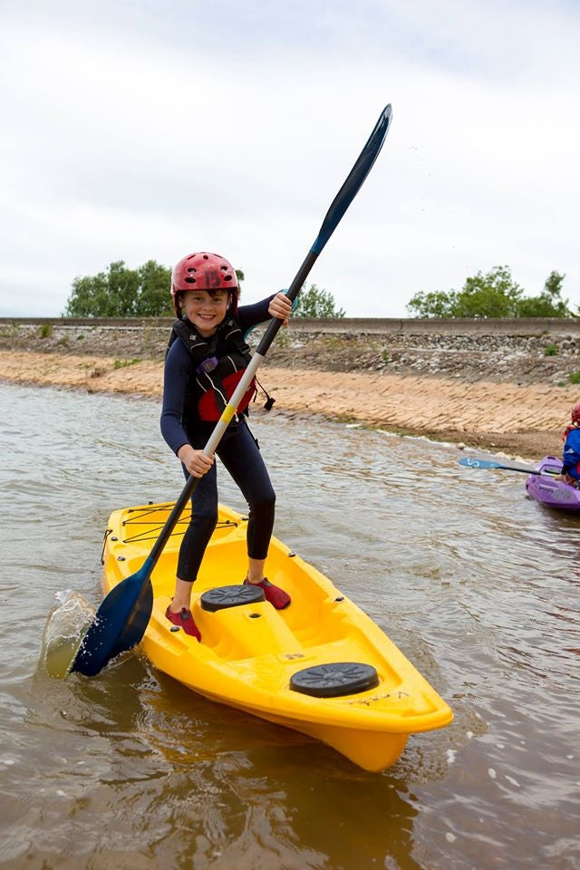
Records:
[[[313,246],[305,257],[304,263],[298,269],[294,281],[286,291],[286,295],[291,302],[294,302],[299,294],[300,288],[304,285],[304,281],[314,266],[316,258],[323,250],[328,239],[333,235],[333,231],[343,218],[346,209],[350,206],[353,198],[361,189],[364,179],[366,179],[371,171],[372,165],[379,156],[382,144],[391,126],[391,117],[391,106],[388,105],[381,112],[369,140],[362,149],[347,179],[344,181],[343,187],[333,199],[322,227],[320,227],[318,236],[314,239]],[[257,346],[256,353],[253,354],[244,372],[244,376],[237,384],[236,390],[227,402],[227,406],[222,412],[216,428],[204,447],[204,453],[207,456],[213,456],[215,453],[229,422],[236,414],[237,405],[248,390],[257,368],[263,362],[266,352],[274,341],[275,335],[281,325],[282,321],[276,317],[273,317],[268,324],[266,332]],[[120,652],[131,650],[133,646],[140,642],[147,628],[147,623],[149,623],[153,608],[151,573],[189,498],[191,498],[195,491],[198,481],[199,478],[192,476],[188,478],[164,527],[161,529],[160,536],[155,542],[150,556],[148,556],[140,570],[122,580],[103,599],[93,622],[82,638],[81,646],[71,666],[71,672],[78,671],[86,676],[93,676],[99,673],[107,662],[110,662]]]

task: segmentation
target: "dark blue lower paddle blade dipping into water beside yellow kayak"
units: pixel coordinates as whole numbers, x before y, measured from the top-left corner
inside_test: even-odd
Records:
[[[120,652],[140,642],[153,609],[153,589],[145,568],[122,580],[103,599],[77,652],[71,671],[93,677]]]

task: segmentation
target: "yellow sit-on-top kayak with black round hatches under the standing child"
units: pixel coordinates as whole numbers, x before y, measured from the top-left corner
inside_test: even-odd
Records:
[[[172,504],[111,514],[105,593],[138,571]],[[184,512],[151,575],[153,610],[141,648],[160,671],[212,701],[308,734],[366,770],[390,767],[410,734],[448,725],[449,706],[370,617],[275,537],[266,575],[291,595],[285,610],[242,585],[247,517],[219,507],[194,585],[201,643],[165,617]]]

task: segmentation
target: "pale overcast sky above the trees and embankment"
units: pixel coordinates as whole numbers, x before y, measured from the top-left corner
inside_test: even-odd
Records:
[[[308,284],[405,317],[507,265],[580,304],[579,45],[577,0],[0,0],[0,316],[198,250],[289,285],[387,103]]]

